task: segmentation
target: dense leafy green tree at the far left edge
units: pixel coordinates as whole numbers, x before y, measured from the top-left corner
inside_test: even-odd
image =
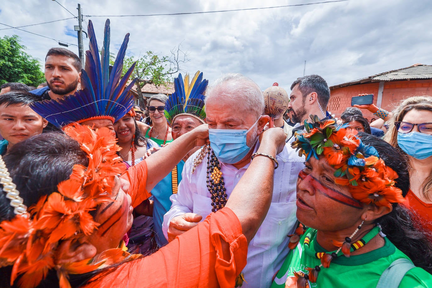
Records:
[[[0,84],[21,82],[38,86],[46,81],[40,63],[19,42],[17,35],[0,38]]]

